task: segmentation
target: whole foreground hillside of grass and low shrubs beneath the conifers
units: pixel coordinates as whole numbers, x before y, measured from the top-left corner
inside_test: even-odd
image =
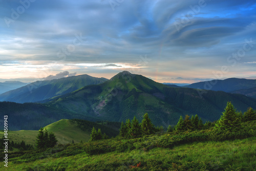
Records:
[[[255,121],[237,132],[171,132],[10,152],[12,170],[254,170]],[[218,135],[218,136],[217,136]],[[1,153],[3,158],[4,153]],[[3,160],[3,159],[2,159]],[[0,168],[4,168],[1,165]]]

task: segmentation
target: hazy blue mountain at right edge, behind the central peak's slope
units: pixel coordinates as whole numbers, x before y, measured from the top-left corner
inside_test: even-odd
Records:
[[[184,88],[204,89],[213,91],[234,92],[237,90],[256,88],[256,79],[228,78],[212,80],[183,86]]]

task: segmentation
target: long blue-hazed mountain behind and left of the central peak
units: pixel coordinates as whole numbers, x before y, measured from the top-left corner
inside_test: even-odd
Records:
[[[106,78],[96,78],[89,75],[78,75],[53,80],[36,81],[0,95],[0,101],[18,103],[37,102],[55,96],[73,92],[90,84],[106,81]]]

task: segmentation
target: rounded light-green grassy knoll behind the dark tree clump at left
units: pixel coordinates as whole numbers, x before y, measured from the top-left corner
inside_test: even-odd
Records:
[[[80,126],[78,126],[77,121],[61,119],[57,122],[51,123],[44,128],[46,128],[49,132],[53,132],[56,136],[59,144],[68,144],[79,143],[81,140],[83,142],[87,142],[90,139],[91,130],[94,127],[101,128],[102,133],[106,135],[116,136],[118,134],[118,130],[109,125],[101,125],[99,123],[90,122],[84,120],[87,123],[88,129],[84,130]],[[24,140],[26,144],[35,145],[36,136],[38,135],[38,131],[32,130],[21,130],[21,131],[9,131],[8,136],[10,141],[21,142]],[[0,131],[0,136],[4,136],[4,132]]]

